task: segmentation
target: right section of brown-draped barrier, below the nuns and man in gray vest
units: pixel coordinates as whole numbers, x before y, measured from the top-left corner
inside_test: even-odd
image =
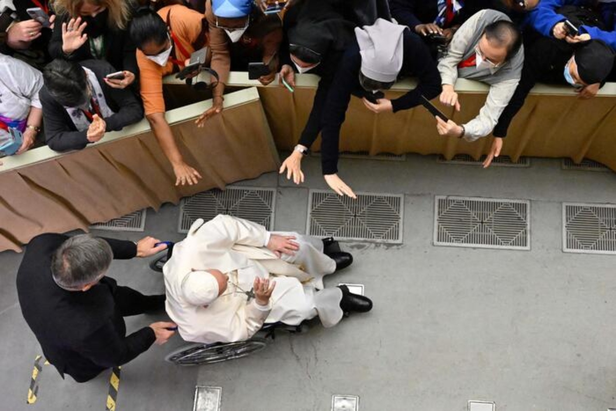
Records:
[[[279,150],[291,150],[298,142],[312,108],[318,77],[299,74],[294,93],[285,87],[270,84],[259,87],[274,141]],[[259,86],[246,73],[231,73],[229,87]],[[416,86],[414,80],[398,82],[386,93],[396,98]],[[166,79],[168,90],[178,98],[186,90],[182,82],[171,76]],[[181,87],[181,88],[180,88]],[[453,121],[463,124],[474,118],[484,105],[488,86],[476,81],[459,79],[456,91],[462,109],[434,103]],[[514,161],[521,156],[572,158],[580,162],[593,159],[616,170],[616,83],[608,83],[597,97],[582,100],[569,86],[536,86],[517,114],[505,140],[501,154]],[[180,99],[181,100],[181,99]],[[352,98],[347,118],[341,130],[341,151],[379,153],[442,154],[451,159],[456,154],[469,154],[479,159],[492,146],[492,138],[466,142],[458,138],[441,137],[436,121],[422,106],[399,113],[375,114],[359,98]],[[313,147],[318,151],[319,142]]]

